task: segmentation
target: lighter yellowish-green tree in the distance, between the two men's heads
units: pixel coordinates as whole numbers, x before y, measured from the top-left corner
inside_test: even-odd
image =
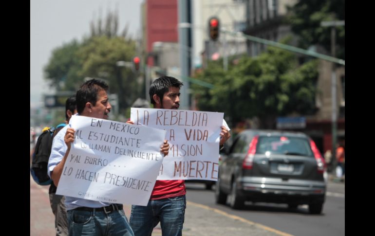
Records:
[[[131,61],[135,42],[123,37],[94,36],[82,46],[77,55],[82,64],[78,75],[107,79],[112,93],[117,93],[120,109],[131,106],[139,95],[134,73],[129,68],[118,67],[117,61]]]

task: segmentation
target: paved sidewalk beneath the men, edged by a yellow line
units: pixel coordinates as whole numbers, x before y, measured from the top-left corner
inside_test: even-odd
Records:
[[[54,215],[50,207],[48,187],[35,183],[30,176],[30,236],[55,235]],[[129,219],[131,206],[124,205]],[[157,225],[152,236],[161,236]],[[244,218],[187,201],[183,236],[290,236]]]

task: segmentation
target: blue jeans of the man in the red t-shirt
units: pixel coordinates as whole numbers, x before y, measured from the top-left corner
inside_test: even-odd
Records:
[[[159,223],[162,236],[182,236],[186,196],[149,200],[147,206],[131,206],[130,225],[135,236],[150,236]]]

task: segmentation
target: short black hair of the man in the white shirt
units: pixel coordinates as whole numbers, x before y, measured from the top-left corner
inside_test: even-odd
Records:
[[[106,82],[98,79],[90,79],[83,83],[77,93],[75,94],[75,99],[77,101],[77,112],[82,113],[85,109],[86,103],[92,103],[94,106],[96,104],[97,95],[99,91],[108,91],[109,86]]]

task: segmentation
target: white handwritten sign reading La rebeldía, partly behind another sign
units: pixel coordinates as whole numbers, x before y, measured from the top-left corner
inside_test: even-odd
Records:
[[[169,154],[158,180],[217,181],[223,116],[220,112],[131,108],[130,119],[135,125],[167,131]]]

